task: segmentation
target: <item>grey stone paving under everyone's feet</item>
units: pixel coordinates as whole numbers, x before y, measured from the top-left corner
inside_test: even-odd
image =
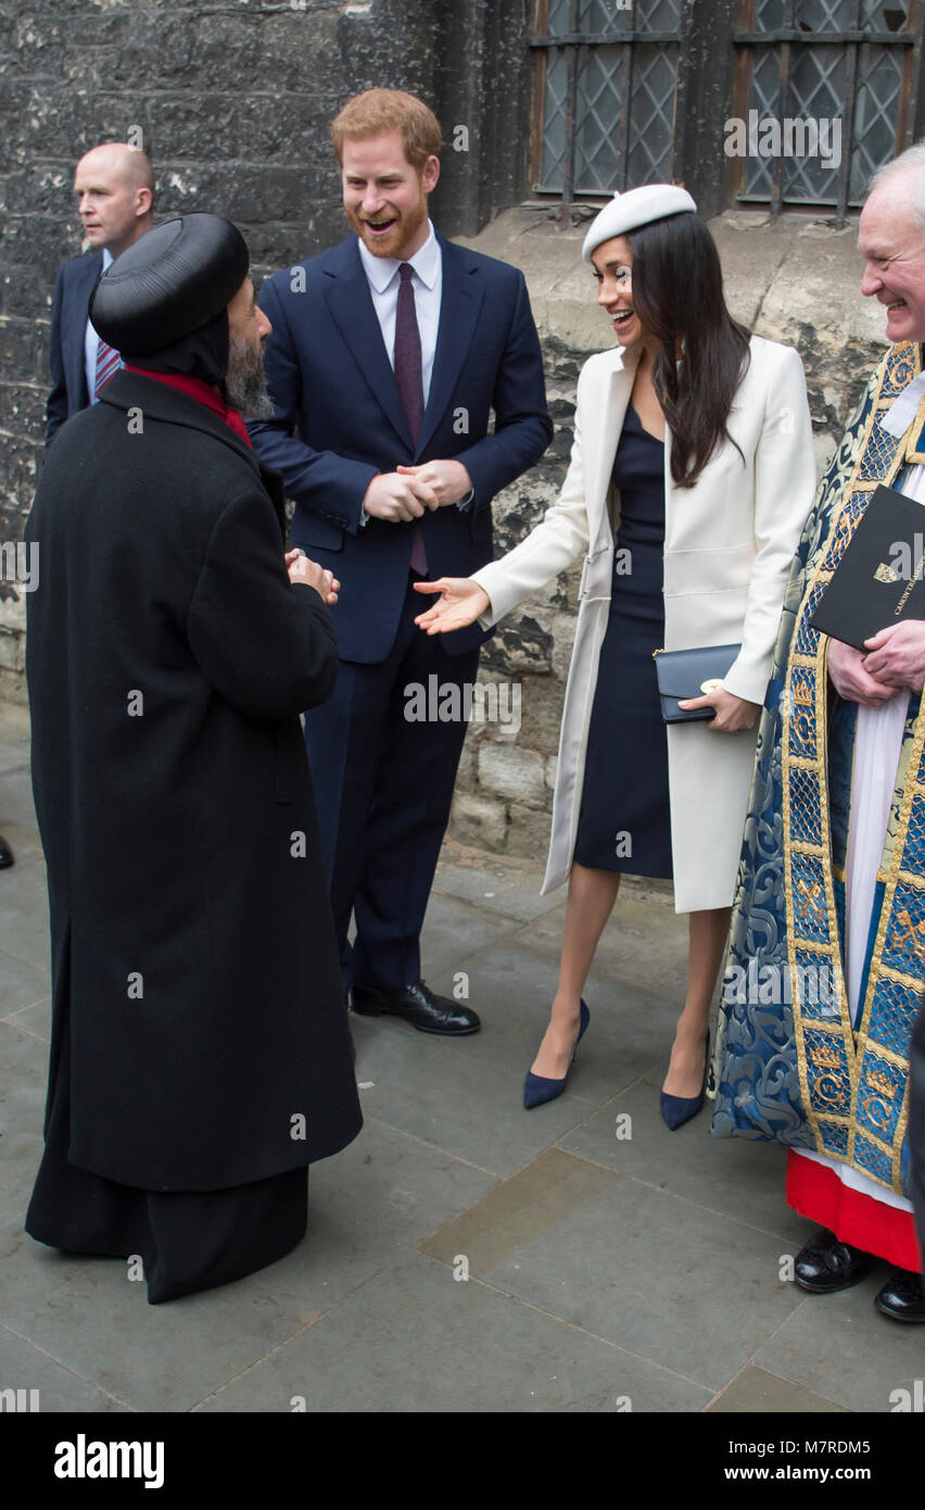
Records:
[[[353,1018],[365,1126],[312,1169],[287,1259],[149,1306],[124,1264],[33,1243],[48,947],[27,761],[24,710],[0,708],[0,1388],[44,1412],[887,1412],[920,1377],[919,1329],[871,1303],[881,1265],[830,1297],[779,1277],[809,1231],[780,1149],[711,1139],[706,1113],[662,1125],[687,944],[664,891],[626,886],[567,1092],[522,1110],[564,912],[539,858],[447,847],[424,974],[451,992],[465,972],[483,1031]]]

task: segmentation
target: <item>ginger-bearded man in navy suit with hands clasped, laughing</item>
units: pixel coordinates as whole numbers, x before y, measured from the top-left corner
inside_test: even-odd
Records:
[[[418,942],[466,725],[409,713],[433,675],[444,708],[474,683],[484,634],[421,634],[413,583],[490,560],[492,498],[552,433],[542,353],[522,273],[430,223],[427,106],[370,89],[332,136],[355,234],[264,284],[275,415],[250,435],[296,503],[293,545],[341,581],[338,683],[305,731],[344,986],[355,1012],[474,1033],[421,980]]]

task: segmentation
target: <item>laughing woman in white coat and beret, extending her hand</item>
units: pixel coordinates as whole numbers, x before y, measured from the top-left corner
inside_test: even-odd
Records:
[[[418,624],[430,634],[495,624],[585,557],[543,883],[569,879],[566,930],[524,1104],[564,1089],[620,873],[673,876],[675,908],[690,912],[687,998],[661,1098],[676,1128],[703,1102],[754,731],[815,489],[812,429],[800,356],[732,320],[712,237],[684,189],[614,195],[582,255],[619,346],[581,371],[561,495],[475,577],[416,583],[441,593]],[[652,652],[739,643],[721,686],[682,704],[711,707],[709,722],[673,725],[665,740]]]

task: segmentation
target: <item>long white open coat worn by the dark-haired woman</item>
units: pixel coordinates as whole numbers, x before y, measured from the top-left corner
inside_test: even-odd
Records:
[[[758,335],[751,337],[750,353],[727,421],[741,456],[724,441],[694,488],[676,488],[665,435],[664,649],[741,642],[723,686],[738,698],[764,702],[783,592],[813,500],[816,470],[798,353]],[[635,359],[622,347],[584,364],[572,459],[558,500],[521,545],[475,572],[490,598],[480,619],[487,627],[585,557],[545,892],[567,879],[578,830],[614,538],[619,547],[620,500],[611,471],[634,374]],[[758,728],[723,734],[708,722],[694,722],[668,726],[667,737],[675,909],[729,906]],[[626,868],[632,870],[631,861]]]

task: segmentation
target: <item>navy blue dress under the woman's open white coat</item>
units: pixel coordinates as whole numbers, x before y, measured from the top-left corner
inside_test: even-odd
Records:
[[[668,747],[652,651],[664,645],[664,441],[632,405],[614,458],[620,527],[610,618],[588,728],[575,859],[592,870],[671,877]],[[626,572],[629,551],[631,571]]]

